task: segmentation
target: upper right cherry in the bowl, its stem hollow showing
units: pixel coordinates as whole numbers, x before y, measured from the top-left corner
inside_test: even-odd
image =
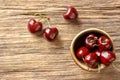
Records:
[[[98,47],[100,50],[110,49],[112,46],[111,40],[107,36],[101,36],[98,39]]]

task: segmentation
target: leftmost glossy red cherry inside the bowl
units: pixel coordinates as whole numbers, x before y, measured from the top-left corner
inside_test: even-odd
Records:
[[[78,59],[82,59],[88,54],[89,54],[89,50],[86,47],[80,47],[76,52],[76,57]]]

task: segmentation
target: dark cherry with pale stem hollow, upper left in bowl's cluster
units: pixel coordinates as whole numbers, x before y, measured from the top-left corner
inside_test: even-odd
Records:
[[[97,36],[95,36],[94,34],[88,35],[85,39],[85,44],[88,48],[93,48],[97,46]]]

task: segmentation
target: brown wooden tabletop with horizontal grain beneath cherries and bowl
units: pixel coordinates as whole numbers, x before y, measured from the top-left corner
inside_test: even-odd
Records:
[[[70,5],[78,10],[77,23],[62,16]],[[59,29],[54,42],[29,33],[28,20],[39,19],[35,13],[47,14]],[[0,80],[120,80],[112,66],[88,72],[72,60],[72,39],[93,27],[112,37],[120,69],[120,0],[0,0]]]

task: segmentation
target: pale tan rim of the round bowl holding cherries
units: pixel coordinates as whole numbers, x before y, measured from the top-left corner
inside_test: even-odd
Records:
[[[98,69],[94,69],[94,68],[90,68],[88,67],[86,64],[83,65],[83,63],[81,63],[75,56],[75,53],[74,53],[74,43],[75,43],[75,40],[83,33],[87,32],[87,31],[99,31],[100,33],[103,33],[105,34],[110,40],[111,40],[111,43],[112,43],[112,46],[113,46],[113,51],[114,51],[114,45],[113,45],[113,40],[111,39],[110,35],[105,32],[104,30],[101,30],[101,29],[98,29],[98,28],[88,28],[88,29],[85,29],[85,30],[82,30],[80,31],[72,40],[71,42],[71,45],[70,45],[70,53],[71,53],[71,56],[72,56],[72,59],[74,60],[74,62],[82,69],[84,70],[87,70],[87,71],[98,71]],[[102,64],[101,67],[100,67],[100,70],[104,69],[105,66]]]

